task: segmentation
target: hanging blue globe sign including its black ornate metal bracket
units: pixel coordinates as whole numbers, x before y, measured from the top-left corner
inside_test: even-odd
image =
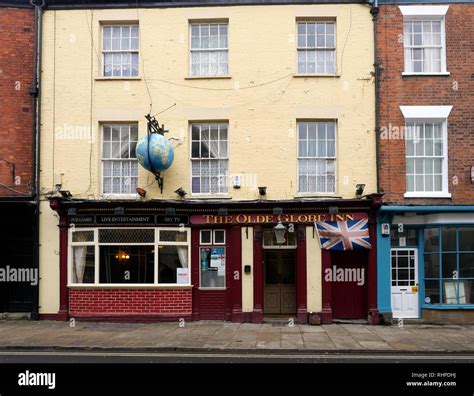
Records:
[[[145,118],[148,121],[148,133],[137,144],[137,159],[143,168],[155,175],[163,193],[161,172],[173,163],[174,149],[171,142],[164,136],[168,132],[164,129],[164,125],[160,126],[155,117],[150,114],[147,114]]]

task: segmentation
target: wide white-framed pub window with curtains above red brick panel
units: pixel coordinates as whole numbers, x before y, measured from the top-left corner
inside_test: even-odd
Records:
[[[71,231],[70,284],[190,284],[187,228]]]

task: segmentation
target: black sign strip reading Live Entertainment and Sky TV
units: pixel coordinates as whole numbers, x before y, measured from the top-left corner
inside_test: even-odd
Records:
[[[180,225],[189,224],[187,215],[77,215],[68,217],[69,224],[90,225]]]

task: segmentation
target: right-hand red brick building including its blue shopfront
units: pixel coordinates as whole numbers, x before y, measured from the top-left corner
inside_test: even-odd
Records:
[[[474,3],[383,0],[376,26],[379,310],[472,320]]]

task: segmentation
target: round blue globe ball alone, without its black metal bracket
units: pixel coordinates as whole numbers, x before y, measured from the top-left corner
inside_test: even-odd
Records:
[[[136,151],[140,165],[153,173],[168,169],[174,160],[173,146],[159,133],[152,133],[141,138]]]

